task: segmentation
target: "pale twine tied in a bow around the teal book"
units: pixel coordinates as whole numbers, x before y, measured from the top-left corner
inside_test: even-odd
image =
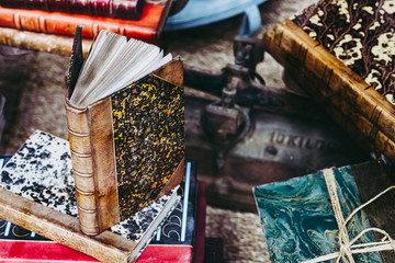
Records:
[[[394,250],[395,251],[395,241],[390,237],[390,235],[380,229],[380,228],[368,228],[364,229],[363,231],[361,231],[359,235],[357,235],[357,237],[354,237],[352,240],[350,240],[348,232],[347,232],[347,222],[361,209],[363,209],[365,206],[368,206],[369,204],[373,203],[374,201],[376,201],[379,197],[381,197],[382,195],[384,195],[385,193],[387,193],[391,190],[395,188],[395,185],[387,187],[386,190],[384,190],[383,192],[381,192],[380,194],[377,194],[376,196],[374,196],[373,198],[371,198],[370,201],[368,201],[366,203],[360,205],[359,207],[357,207],[346,219],[341,213],[341,207],[340,207],[340,201],[336,191],[336,181],[335,181],[335,174],[334,174],[334,169],[329,168],[329,169],[325,169],[324,170],[324,178],[325,178],[325,182],[328,188],[328,193],[329,193],[329,197],[330,197],[330,203],[332,205],[334,208],[334,213],[335,213],[335,218],[336,221],[339,226],[339,251],[338,252],[334,252],[330,254],[326,254],[323,256],[318,256],[316,259],[313,260],[307,260],[304,261],[303,263],[318,263],[318,262],[324,262],[324,261],[328,261],[328,260],[336,260],[336,263],[339,263],[340,260],[343,260],[345,262],[348,263],[354,263],[356,261],[352,258],[352,254],[358,254],[358,253],[368,253],[368,252],[379,252],[379,251],[385,251],[385,250]],[[356,242],[366,232],[379,232],[381,235],[383,235],[383,238],[381,241],[379,242],[369,242],[369,243],[359,243],[356,244]]]

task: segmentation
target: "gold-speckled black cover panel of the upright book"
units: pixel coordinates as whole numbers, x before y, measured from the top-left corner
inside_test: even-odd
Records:
[[[111,96],[121,220],[155,201],[184,155],[183,88],[149,75]]]

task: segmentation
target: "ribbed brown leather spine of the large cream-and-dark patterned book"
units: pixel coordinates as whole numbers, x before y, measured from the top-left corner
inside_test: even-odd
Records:
[[[395,160],[395,108],[371,84],[290,20],[263,46],[359,144]]]

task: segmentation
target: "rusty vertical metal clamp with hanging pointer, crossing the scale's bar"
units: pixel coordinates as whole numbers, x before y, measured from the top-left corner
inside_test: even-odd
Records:
[[[237,145],[251,127],[248,108],[237,104],[238,91],[252,87],[256,77],[263,83],[255,69],[263,59],[260,45],[250,39],[235,42],[235,65],[223,70],[226,84],[222,88],[221,100],[210,103],[202,113],[202,127],[216,151],[215,167],[221,170],[225,157]]]

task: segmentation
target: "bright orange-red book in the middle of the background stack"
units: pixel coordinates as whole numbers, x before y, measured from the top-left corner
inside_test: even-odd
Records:
[[[0,8],[0,26],[46,34],[74,35],[77,25],[83,25],[82,37],[93,38],[108,30],[127,38],[156,43],[166,20],[167,5],[145,4],[138,21],[69,14],[40,10]]]

